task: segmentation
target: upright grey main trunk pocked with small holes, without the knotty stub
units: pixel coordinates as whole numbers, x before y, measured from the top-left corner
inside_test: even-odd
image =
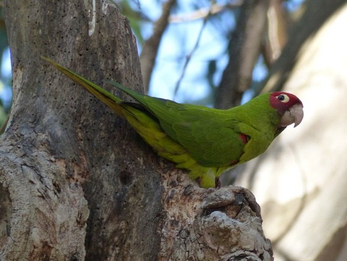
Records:
[[[5,12],[14,102],[0,150],[12,210],[3,257],[155,258],[156,158],[123,120],[40,59],[98,83],[140,86],[128,21],[103,1],[7,1]]]

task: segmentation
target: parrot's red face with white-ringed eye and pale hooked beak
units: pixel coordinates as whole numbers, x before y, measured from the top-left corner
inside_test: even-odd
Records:
[[[303,118],[303,105],[294,94],[283,91],[273,92],[270,95],[270,105],[280,112],[281,127],[292,123],[296,127],[300,124]]]

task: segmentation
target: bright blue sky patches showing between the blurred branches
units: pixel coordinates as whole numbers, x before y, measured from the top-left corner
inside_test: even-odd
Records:
[[[184,1],[178,0],[179,9],[176,13],[179,15],[189,15],[196,7],[206,7],[210,1]],[[223,5],[229,3],[227,0],[216,1]],[[297,9],[303,0],[287,1],[286,7],[293,11]],[[134,8],[139,9],[151,21],[156,21],[161,15],[162,1],[134,1],[130,2]],[[203,19],[193,21],[184,21],[181,23],[170,23],[164,33],[156,66],[154,68],[148,94],[165,99],[175,100],[177,102],[196,103],[210,95],[211,87],[206,80],[206,71],[211,60],[215,60],[216,73],[213,77],[213,84],[218,85],[222,70],[227,63],[227,33],[235,26],[235,16],[231,11],[224,11],[220,16],[203,25]],[[144,22],[141,26],[143,37],[147,39],[152,33],[152,23]],[[196,45],[200,31],[202,30],[198,48],[192,54],[191,59],[185,71],[183,80],[175,95],[175,87],[183,71],[183,64],[187,54],[190,54]],[[141,47],[139,46],[139,52]],[[2,70],[0,79],[0,98],[5,107],[11,103],[12,91],[9,86],[4,85],[7,79],[11,77],[10,52],[7,49],[2,57]],[[253,72],[253,79],[261,81],[266,77],[266,68],[259,60]],[[245,99],[248,100],[250,95]],[[205,101],[207,106],[212,106],[212,100]]]

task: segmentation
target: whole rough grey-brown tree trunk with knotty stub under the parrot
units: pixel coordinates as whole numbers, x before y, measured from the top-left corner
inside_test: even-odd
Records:
[[[141,91],[135,39],[117,7],[7,0],[4,10],[14,95],[0,146],[1,259],[272,259],[248,190],[197,187],[40,59]]]

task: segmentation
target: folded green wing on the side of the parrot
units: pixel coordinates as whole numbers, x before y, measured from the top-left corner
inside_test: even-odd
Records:
[[[116,82],[110,83],[141,103],[159,120],[165,133],[181,144],[200,165],[233,165],[244,153],[240,122],[230,117],[232,114],[228,111],[178,104],[139,94]]]

